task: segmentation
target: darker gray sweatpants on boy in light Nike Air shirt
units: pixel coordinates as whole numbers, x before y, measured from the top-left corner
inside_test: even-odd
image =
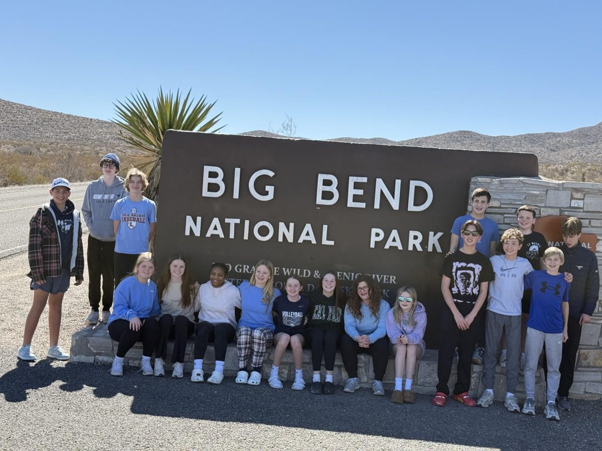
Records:
[[[497,345],[501,332],[506,330],[506,391],[514,393],[518,385],[521,355],[521,316],[509,316],[487,310],[485,322],[485,355],[483,356],[483,384],[493,389]],[[541,351],[540,351],[541,352]]]

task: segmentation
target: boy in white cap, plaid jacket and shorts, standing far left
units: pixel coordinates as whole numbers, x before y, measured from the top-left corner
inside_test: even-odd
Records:
[[[46,302],[50,331],[48,357],[69,360],[69,354],[58,346],[63,296],[69,288],[70,277],[75,277],[75,285],[84,280],[81,223],[78,210],[69,200],[69,180],[52,180],[50,195],[50,203],[42,205],[29,221],[28,258],[31,271],[28,276],[31,277],[34,302],[25,321],[23,345],[17,354],[21,360],[37,358],[31,352],[31,339]]]

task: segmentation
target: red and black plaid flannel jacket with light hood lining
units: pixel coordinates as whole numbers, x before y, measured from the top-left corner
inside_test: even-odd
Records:
[[[70,202],[69,200],[67,202]],[[58,238],[57,224],[49,212],[50,205],[40,207],[29,221],[29,272],[28,276],[39,283],[47,277],[61,275],[61,246]],[[80,218],[78,210],[73,215]],[[76,280],[84,280],[84,246],[81,241],[81,220],[78,221],[78,246],[75,257],[75,268],[71,275]],[[73,250],[72,250],[73,252]]]

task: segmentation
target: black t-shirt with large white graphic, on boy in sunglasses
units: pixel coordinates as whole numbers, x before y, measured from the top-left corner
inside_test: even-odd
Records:
[[[487,257],[480,252],[465,254],[461,250],[445,257],[441,275],[450,278],[453,300],[459,304],[474,304],[479,297],[479,284],[495,278]]]

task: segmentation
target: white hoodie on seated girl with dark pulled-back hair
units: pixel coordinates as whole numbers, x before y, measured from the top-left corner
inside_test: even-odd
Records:
[[[240,291],[228,280],[219,288],[211,286],[211,280],[203,283],[196,295],[196,304],[200,305],[199,322],[229,323],[237,328],[234,307],[242,308],[243,304]]]

